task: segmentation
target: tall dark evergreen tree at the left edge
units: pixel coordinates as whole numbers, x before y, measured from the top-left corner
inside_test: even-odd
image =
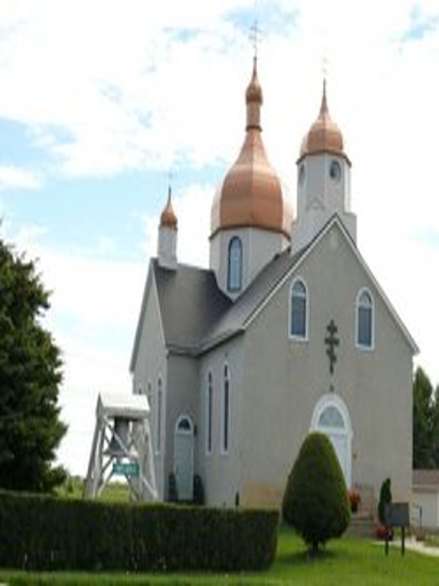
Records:
[[[50,491],[67,427],[57,404],[60,351],[40,323],[49,294],[35,264],[0,239],[0,487]]]

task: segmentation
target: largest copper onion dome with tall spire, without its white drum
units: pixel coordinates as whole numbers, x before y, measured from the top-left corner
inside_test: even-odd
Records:
[[[235,164],[215,194],[211,209],[211,235],[221,228],[258,227],[282,232],[290,238],[292,210],[282,197],[277,175],[268,162],[260,135],[262,89],[256,57],[245,93],[246,135]]]

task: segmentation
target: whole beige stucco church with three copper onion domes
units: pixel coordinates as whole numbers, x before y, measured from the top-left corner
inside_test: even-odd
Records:
[[[196,478],[208,505],[278,505],[318,430],[348,488],[378,498],[389,477],[393,498],[410,500],[417,347],[356,246],[351,161],[325,84],[294,215],[262,101],[255,58],[243,145],[212,201],[208,270],[178,261],[170,192],[160,218],[130,366],[150,401],[160,499],[193,499]]]

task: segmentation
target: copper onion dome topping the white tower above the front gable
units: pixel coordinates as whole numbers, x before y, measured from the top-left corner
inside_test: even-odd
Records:
[[[343,150],[343,136],[337,124],[331,120],[326,99],[326,80],[323,80],[323,96],[320,113],[310,130],[303,137],[300,147],[299,160],[304,155],[331,152],[348,159]],[[349,159],[348,159],[349,161]]]

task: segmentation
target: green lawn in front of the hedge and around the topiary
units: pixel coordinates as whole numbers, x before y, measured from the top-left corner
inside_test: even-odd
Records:
[[[239,546],[238,546],[239,547]],[[0,582],[7,584],[326,584],[381,586],[387,584],[421,586],[439,584],[439,560],[406,552],[403,558],[397,548],[384,547],[366,540],[330,541],[324,555],[310,560],[303,544],[291,530],[282,528],[275,564],[263,573],[251,574],[81,574],[35,573],[0,570]]]

